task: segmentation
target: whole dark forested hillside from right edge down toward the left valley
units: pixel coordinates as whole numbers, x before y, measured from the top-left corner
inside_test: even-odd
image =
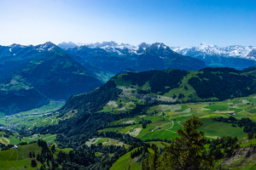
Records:
[[[251,68],[250,71],[253,69]],[[76,110],[78,114],[69,120],[61,121],[58,125],[38,130],[41,133],[46,131],[58,133],[57,139],[64,144],[63,146],[73,144],[79,146],[87,139],[97,136],[98,129],[112,127],[112,122],[125,117],[143,115],[154,105],[175,105],[204,100],[217,101],[253,94],[255,93],[254,80],[253,74],[246,70],[236,71],[229,68],[207,68],[201,71],[171,69],[140,73],[128,72],[113,77],[101,88],[88,94],[73,95],[67,99],[66,105],[61,108],[60,112],[64,114]],[[103,110],[111,100],[125,100],[123,99],[125,91],[121,90],[123,89],[121,87],[124,89],[126,87],[128,91],[131,89],[129,92],[131,97],[146,94],[144,102],[137,102],[131,98],[135,106],[127,111],[128,108],[125,107],[126,109],[120,112],[122,114],[113,114],[114,108],[108,111]],[[203,93],[204,91],[207,93]],[[166,101],[160,99],[164,97],[167,98]],[[120,102],[119,105],[122,103]]]

